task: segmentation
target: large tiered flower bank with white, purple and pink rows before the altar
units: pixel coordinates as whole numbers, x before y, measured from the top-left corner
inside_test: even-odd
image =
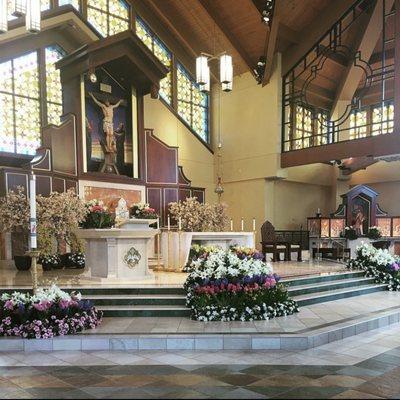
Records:
[[[298,312],[297,303],[257,250],[204,250],[196,247],[196,256],[186,267],[186,305],[192,319],[253,321]]]

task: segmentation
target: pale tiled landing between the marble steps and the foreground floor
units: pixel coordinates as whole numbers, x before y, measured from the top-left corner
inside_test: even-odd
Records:
[[[400,307],[399,292],[377,292],[364,296],[301,307],[300,312],[269,321],[198,322],[188,318],[104,318],[85,334],[108,333],[294,333],[326,324]]]

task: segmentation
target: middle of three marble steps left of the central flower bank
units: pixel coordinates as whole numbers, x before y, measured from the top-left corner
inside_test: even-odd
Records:
[[[93,301],[93,304],[101,308],[104,305],[168,305],[168,306],[184,306],[186,297],[157,294],[157,295],[87,295],[85,299]]]

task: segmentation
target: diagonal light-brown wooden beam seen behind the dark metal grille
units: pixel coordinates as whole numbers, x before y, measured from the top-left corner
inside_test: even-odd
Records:
[[[394,0],[388,0],[386,4],[391,8],[393,2]],[[353,42],[353,53],[359,53],[363,60],[371,58],[379,36],[382,33],[382,13],[384,12],[382,4],[384,3],[381,1],[375,1],[371,9],[360,16],[357,22],[358,35]],[[363,75],[364,70],[355,65],[355,60],[346,68],[343,78],[338,85],[331,116],[336,118],[336,116],[341,115],[342,111],[339,108],[343,101],[350,104]]]

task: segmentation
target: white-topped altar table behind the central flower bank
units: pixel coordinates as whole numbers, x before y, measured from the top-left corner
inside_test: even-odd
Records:
[[[162,233],[161,251],[164,267],[181,271],[189,260],[190,247],[193,244],[201,246],[255,247],[254,232],[182,232],[164,231]]]

